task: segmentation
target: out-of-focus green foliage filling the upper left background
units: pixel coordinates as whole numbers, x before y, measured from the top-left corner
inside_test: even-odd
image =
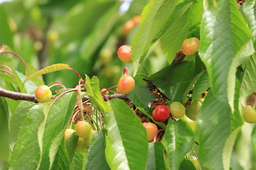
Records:
[[[148,0],[1,1],[0,44],[8,45],[36,69],[55,63],[69,64],[82,77],[96,75],[100,86],[107,88],[117,84],[124,67],[132,73],[132,64],[119,60],[117,49],[131,44],[139,27],[137,16],[147,3]],[[149,74],[167,65],[159,46],[156,43],[151,48],[150,60],[144,62]],[[25,71],[20,60],[12,55],[0,55],[0,64]],[[146,74],[143,67],[139,72]],[[144,84],[142,78],[138,75],[135,81]],[[45,74],[43,79],[46,84],[78,84],[78,77],[70,70]]]

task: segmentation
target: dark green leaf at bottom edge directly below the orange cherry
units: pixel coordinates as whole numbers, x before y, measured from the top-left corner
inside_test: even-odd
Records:
[[[164,163],[164,146],[161,142],[149,142],[149,157],[146,170],[166,169]]]

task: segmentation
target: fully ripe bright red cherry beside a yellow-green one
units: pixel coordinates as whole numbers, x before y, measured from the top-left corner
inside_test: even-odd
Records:
[[[169,108],[164,105],[157,106],[152,112],[152,117],[156,122],[165,122],[170,116]]]

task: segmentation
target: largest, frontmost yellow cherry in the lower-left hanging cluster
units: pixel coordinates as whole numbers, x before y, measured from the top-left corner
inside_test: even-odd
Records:
[[[82,120],[75,125],[75,132],[79,137],[87,138],[91,135],[90,124]]]

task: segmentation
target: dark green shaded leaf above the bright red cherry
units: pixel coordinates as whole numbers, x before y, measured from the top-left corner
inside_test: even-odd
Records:
[[[180,62],[171,64],[169,67],[149,77],[151,81],[171,101],[183,103],[194,78],[203,71],[200,60],[192,62]]]

